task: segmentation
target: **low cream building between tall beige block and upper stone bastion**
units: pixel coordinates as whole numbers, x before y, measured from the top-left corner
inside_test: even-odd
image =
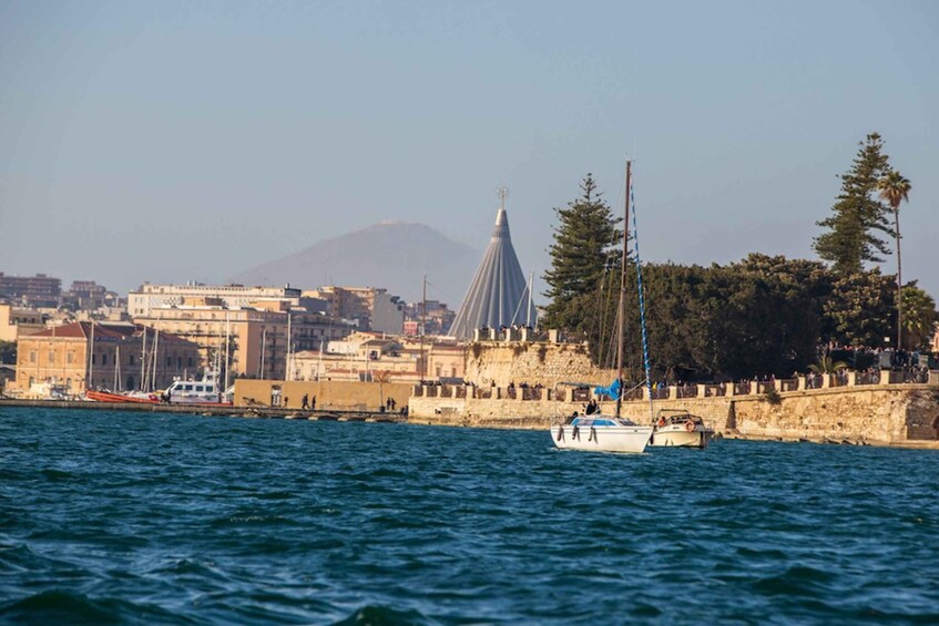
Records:
[[[356,332],[320,350],[298,352],[293,380],[409,382],[462,379],[466,349],[455,341],[423,343],[380,332]]]

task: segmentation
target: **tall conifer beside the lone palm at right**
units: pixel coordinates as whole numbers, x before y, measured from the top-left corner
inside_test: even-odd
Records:
[[[887,219],[888,207],[877,197],[880,178],[890,171],[888,156],[882,153],[884,141],[877,133],[858,144],[851,170],[841,174],[841,193],[831,207],[833,215],[818,222],[827,228],[815,238],[815,252],[833,264],[837,274],[849,275],[864,270],[864,263],[880,263],[878,255],[890,253],[879,233],[892,234]]]

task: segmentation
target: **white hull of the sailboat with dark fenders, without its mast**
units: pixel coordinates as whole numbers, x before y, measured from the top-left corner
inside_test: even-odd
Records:
[[[651,437],[652,427],[603,414],[576,417],[569,424],[551,427],[554,445],[571,450],[640,453]]]

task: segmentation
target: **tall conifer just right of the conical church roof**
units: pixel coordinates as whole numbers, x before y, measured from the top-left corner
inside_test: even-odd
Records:
[[[610,206],[596,191],[592,174],[580,185],[582,195],[555,208],[560,224],[554,227],[554,243],[548,248],[551,268],[544,273],[550,300],[541,324],[584,333],[596,350],[602,329],[598,317],[603,311],[602,288],[612,283],[619,289],[622,218],[613,217]],[[610,285],[606,285],[609,287]],[[595,356],[594,351],[594,356]]]

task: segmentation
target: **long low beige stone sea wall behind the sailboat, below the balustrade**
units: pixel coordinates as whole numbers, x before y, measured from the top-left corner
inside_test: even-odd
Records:
[[[440,388],[410,399],[415,421],[486,428],[548,428],[553,419],[582,411],[573,390],[482,390],[491,398],[439,397]],[[428,397],[430,393],[430,397]],[[581,391],[580,393],[583,393]],[[514,397],[510,397],[513,394]],[[939,384],[874,384],[783,391],[770,401],[764,393],[656,400],[655,410],[685,410],[701,415],[715,431],[753,439],[868,441],[904,443],[939,440]],[[622,414],[650,421],[649,402],[624,402]]]

